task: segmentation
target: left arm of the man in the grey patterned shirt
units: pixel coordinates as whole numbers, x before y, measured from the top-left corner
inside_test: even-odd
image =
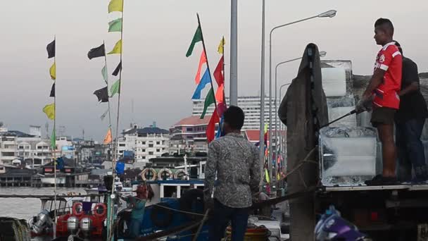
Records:
[[[218,142],[211,142],[208,147],[208,159],[206,160],[205,165],[205,180],[203,181],[203,185],[205,186],[203,189],[203,195],[206,198],[211,197],[213,194],[219,151],[220,146]]]

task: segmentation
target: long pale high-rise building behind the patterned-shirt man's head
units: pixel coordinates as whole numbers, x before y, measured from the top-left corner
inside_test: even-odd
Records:
[[[194,99],[192,116],[201,116],[203,111],[203,104],[205,99]],[[229,106],[229,98],[226,98],[227,106]],[[279,107],[279,99],[277,100],[277,107]],[[238,106],[245,113],[245,122],[242,130],[260,130],[260,96],[244,96],[238,97]],[[214,105],[208,107],[207,115],[211,115],[214,111]],[[275,99],[272,99],[272,126],[275,128],[275,117],[277,116],[275,110]],[[265,97],[265,123],[269,123],[269,97]],[[279,120],[277,121],[279,127]]]

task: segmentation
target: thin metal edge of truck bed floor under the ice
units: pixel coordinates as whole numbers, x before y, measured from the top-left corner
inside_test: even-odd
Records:
[[[420,191],[428,190],[428,184],[420,185],[386,185],[386,186],[348,186],[348,187],[321,187],[325,192],[344,192],[344,191],[374,191],[374,190],[409,190]]]

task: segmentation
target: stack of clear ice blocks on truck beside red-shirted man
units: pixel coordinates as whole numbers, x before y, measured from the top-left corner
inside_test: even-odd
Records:
[[[329,121],[355,109],[351,61],[322,61]],[[351,115],[320,130],[320,179],[325,186],[364,185],[376,175],[377,132]]]

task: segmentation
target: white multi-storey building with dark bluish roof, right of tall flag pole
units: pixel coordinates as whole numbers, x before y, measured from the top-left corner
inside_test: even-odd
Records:
[[[118,140],[118,155],[125,151],[134,152],[135,161],[149,162],[149,159],[160,157],[169,152],[170,135],[168,130],[157,127],[133,128],[125,130]]]

